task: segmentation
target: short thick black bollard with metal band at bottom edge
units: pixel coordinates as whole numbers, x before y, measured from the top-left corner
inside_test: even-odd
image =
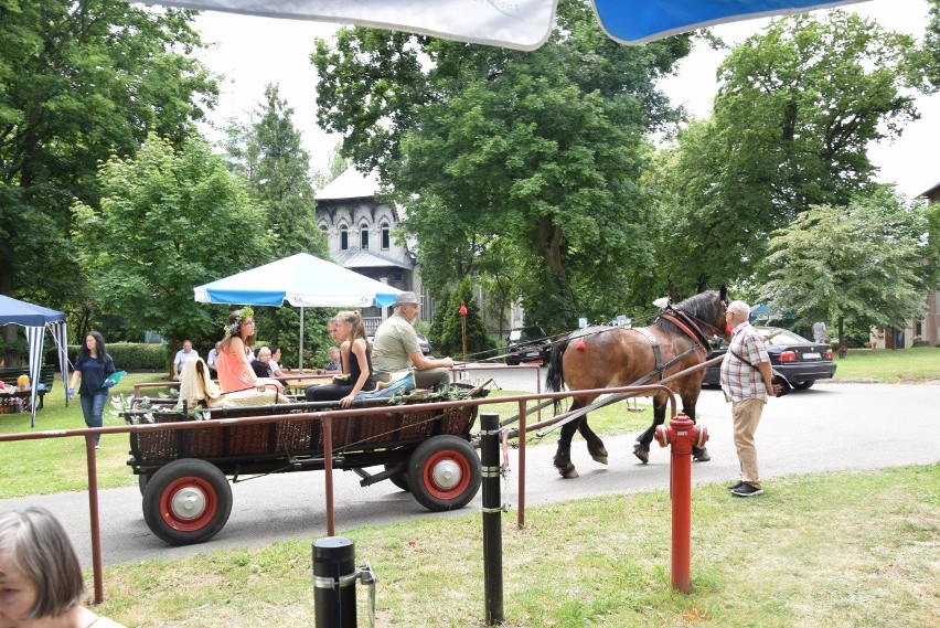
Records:
[[[344,536],[313,542],[316,628],[355,628],[355,543]]]

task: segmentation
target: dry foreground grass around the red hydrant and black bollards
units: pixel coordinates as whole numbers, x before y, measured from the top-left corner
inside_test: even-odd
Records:
[[[526,521],[503,515],[511,628],[940,626],[937,465],[778,478],[754,500],[697,488],[688,595],[670,586],[666,490]],[[377,576],[376,625],[484,626],[481,529],[468,512],[343,531]],[[96,610],[129,627],[312,625],[314,540],[110,566]]]

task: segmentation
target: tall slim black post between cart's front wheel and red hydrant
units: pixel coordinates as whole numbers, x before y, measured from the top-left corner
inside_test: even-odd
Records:
[[[500,415],[480,415],[480,459],[483,475],[483,590],[487,626],[502,624],[503,537],[500,494]]]

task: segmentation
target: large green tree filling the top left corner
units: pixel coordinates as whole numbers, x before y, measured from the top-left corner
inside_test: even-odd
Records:
[[[122,0],[0,7],[0,292],[77,302],[68,206],[154,130],[173,141],[214,104],[193,13]],[[42,273],[36,273],[42,268]]]

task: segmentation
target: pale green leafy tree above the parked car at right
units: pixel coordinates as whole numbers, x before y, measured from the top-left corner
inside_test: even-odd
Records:
[[[815,205],[773,234],[762,299],[798,324],[834,320],[838,337],[857,321],[896,327],[922,313],[929,268],[923,205],[905,206],[889,188],[847,206]]]

